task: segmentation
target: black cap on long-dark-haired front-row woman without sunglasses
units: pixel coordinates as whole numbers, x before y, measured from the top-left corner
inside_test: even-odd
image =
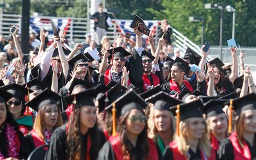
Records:
[[[91,88],[78,94],[65,96],[64,99],[68,105],[75,104],[75,108],[79,108],[85,105],[95,106],[95,103],[93,102],[95,96],[95,90],[94,88]]]

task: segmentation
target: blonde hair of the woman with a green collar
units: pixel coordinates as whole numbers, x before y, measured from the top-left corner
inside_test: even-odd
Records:
[[[175,128],[176,128],[176,121],[174,119],[173,114],[171,112],[168,112],[168,113],[169,113],[169,115],[171,117],[170,129],[171,129],[171,134],[172,134],[172,137],[173,137],[174,131],[175,131]],[[147,121],[147,125],[149,126],[147,136],[149,136],[149,138],[151,138],[154,141],[156,141],[157,140],[158,131],[157,131],[156,125],[154,124],[154,112],[152,112],[152,114],[150,115],[149,120]]]

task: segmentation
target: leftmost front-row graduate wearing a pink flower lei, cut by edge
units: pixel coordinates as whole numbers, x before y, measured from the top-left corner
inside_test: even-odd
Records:
[[[28,157],[24,136],[6,104],[13,96],[0,89],[0,159]]]

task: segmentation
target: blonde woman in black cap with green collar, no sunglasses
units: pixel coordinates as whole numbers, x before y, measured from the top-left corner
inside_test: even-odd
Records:
[[[169,108],[183,103],[183,101],[172,98],[163,91],[151,96],[146,101],[154,103],[153,113],[148,121],[149,137],[158,144],[163,154],[165,147],[173,140],[176,125]]]

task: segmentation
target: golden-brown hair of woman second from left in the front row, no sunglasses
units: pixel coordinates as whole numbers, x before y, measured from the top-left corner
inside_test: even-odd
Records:
[[[35,119],[35,122],[33,124],[33,129],[36,131],[37,135],[44,140],[44,112],[47,106],[44,106],[43,108],[39,109],[37,112],[37,116]],[[58,119],[55,124],[54,129],[58,128],[59,126],[62,126],[62,115],[60,113],[60,109],[58,108]]]

